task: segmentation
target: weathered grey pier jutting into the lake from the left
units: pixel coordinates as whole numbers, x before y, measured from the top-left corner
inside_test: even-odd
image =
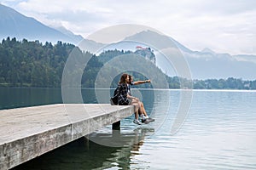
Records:
[[[0,111],[0,169],[9,169],[134,114],[133,106],[41,105]]]

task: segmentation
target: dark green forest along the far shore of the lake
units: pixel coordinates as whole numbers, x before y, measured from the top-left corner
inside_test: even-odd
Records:
[[[63,69],[73,44],[65,42],[45,42],[39,41],[17,41],[14,38],[7,37],[0,43],[0,86],[1,87],[44,87],[60,88]],[[88,55],[88,52],[81,54]],[[90,54],[91,58],[84,68],[81,86],[84,88],[94,88],[95,80],[102,65],[117,55],[134,54],[131,51],[108,50],[96,56]],[[119,61],[120,65],[122,61]],[[150,61],[148,61],[150,62]],[[143,67],[145,63],[140,65]],[[108,68],[112,72],[122,72],[119,67]],[[152,77],[144,77],[138,72],[129,72],[135,77],[135,80],[142,80],[160,77],[164,74],[160,69],[155,68],[155,74]],[[181,77],[166,77],[169,88],[195,88],[195,89],[256,89],[255,81],[245,81],[230,77],[228,79],[207,79],[207,80],[187,80]],[[108,79],[102,79],[102,82],[108,82]],[[116,86],[119,81],[119,75],[113,78],[111,88]],[[152,88],[150,84],[140,85],[138,88]]]

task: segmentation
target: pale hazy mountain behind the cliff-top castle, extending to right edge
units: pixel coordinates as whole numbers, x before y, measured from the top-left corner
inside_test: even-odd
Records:
[[[188,61],[193,79],[208,79],[208,78],[228,78],[236,77],[248,80],[256,79],[256,56],[255,55],[236,55],[217,54],[210,48],[204,48],[202,51],[193,51],[184,47],[181,43],[160,35],[154,31],[142,31],[131,37],[126,37],[125,40],[136,42],[148,42],[150,48],[158,47],[160,49],[173,48],[174,44],[181,51],[184,58]],[[157,44],[156,44],[157,43]],[[156,53],[156,63],[162,71],[165,71],[170,76],[175,76],[172,65]],[[175,58],[176,56],[171,56]]]

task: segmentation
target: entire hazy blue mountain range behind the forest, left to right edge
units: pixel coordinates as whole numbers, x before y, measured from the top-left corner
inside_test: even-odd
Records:
[[[172,37],[160,35],[155,31],[145,30],[136,34],[125,37],[125,43],[103,44],[92,40],[84,39],[82,36],[75,35],[71,31],[67,31],[64,27],[52,28],[45,26],[38,20],[27,17],[13,8],[9,8],[0,4],[0,38],[16,37],[18,40],[26,38],[27,40],[39,40],[40,42],[70,42],[79,46],[87,46],[86,48],[94,51],[97,48],[111,49],[119,48],[124,50],[135,50],[137,45],[145,48],[152,45],[155,50],[156,65],[169,76],[175,76],[175,69],[163,57],[155,47],[165,50],[172,48],[173,44],[183,55],[189,65],[189,69],[193,79],[209,79],[209,78],[228,78],[236,77],[246,80],[256,79],[256,56],[255,55],[230,55],[218,54],[209,48],[202,51],[193,51],[183,44],[177,42]],[[129,42],[127,42],[129,41]],[[140,44],[139,42],[148,42]],[[157,42],[158,44],[154,44]],[[149,44],[149,45],[148,45]],[[172,57],[172,56],[171,56]]]

